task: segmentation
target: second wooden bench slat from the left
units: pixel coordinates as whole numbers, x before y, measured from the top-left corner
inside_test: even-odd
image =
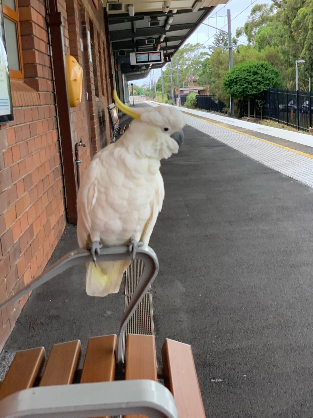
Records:
[[[51,349],[39,386],[71,384],[80,357],[79,340],[55,344]]]

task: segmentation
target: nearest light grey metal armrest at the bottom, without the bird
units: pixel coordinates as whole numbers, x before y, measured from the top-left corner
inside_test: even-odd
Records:
[[[125,414],[178,418],[172,394],[152,380],[33,387],[0,402],[0,418],[89,418]]]

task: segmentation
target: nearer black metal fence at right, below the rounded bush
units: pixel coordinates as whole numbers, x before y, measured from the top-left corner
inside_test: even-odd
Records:
[[[256,101],[255,106],[253,101],[250,102],[250,117],[254,117],[254,108],[256,108],[257,118],[275,120],[298,130],[308,131],[312,126],[312,92],[268,89],[265,100]],[[247,102],[242,103],[242,114],[249,116]]]

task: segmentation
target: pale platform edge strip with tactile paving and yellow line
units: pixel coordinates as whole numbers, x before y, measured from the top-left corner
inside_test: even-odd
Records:
[[[156,102],[148,103],[157,105]],[[273,170],[313,187],[313,135],[264,127],[184,107],[177,109],[186,115],[187,125]]]

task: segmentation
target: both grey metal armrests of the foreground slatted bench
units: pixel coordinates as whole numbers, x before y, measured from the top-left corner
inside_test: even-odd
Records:
[[[159,261],[148,246],[139,247],[136,258],[144,262],[144,272],[121,319],[118,335],[117,368],[123,369],[124,331],[137,306],[159,271]],[[127,246],[102,248],[98,261],[130,260]],[[87,250],[69,252],[22,291],[0,305],[0,311],[43,283],[76,265],[92,262]],[[33,387],[21,390],[0,402],[0,418],[84,418],[140,413],[150,418],[178,418],[170,391],[152,380],[120,380]]]

